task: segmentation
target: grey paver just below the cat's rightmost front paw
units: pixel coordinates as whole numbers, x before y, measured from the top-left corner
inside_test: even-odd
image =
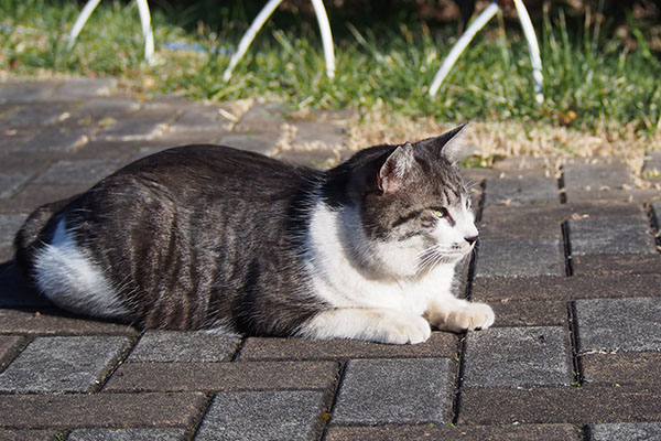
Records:
[[[466,340],[464,386],[568,386],[572,364],[560,326],[498,327]]]

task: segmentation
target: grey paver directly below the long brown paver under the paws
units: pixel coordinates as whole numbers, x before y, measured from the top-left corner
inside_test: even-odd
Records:
[[[446,423],[453,378],[447,358],[349,361],[330,422]]]

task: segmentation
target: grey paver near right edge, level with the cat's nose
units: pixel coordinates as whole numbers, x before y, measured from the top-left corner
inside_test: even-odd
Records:
[[[649,225],[640,218],[568,220],[572,255],[657,254]]]

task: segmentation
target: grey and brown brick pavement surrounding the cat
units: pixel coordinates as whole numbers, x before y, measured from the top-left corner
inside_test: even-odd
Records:
[[[481,239],[460,286],[496,325],[415,346],[141,333],[17,276],[12,236],[41,203],[184,143],[323,166],[343,118],[145,101],[108,79],[0,84],[0,440],[661,439],[661,191],[617,161],[467,170]]]

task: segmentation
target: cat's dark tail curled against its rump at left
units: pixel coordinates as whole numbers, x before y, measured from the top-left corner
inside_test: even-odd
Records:
[[[53,236],[55,214],[61,212],[72,198],[40,206],[17,233],[14,261],[28,279],[31,279],[36,251],[43,248],[44,244],[47,244]]]

